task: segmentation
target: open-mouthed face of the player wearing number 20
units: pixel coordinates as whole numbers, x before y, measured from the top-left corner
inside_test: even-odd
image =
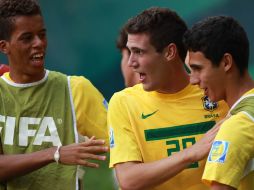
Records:
[[[127,47],[131,52],[128,64],[139,74],[144,90],[167,92],[169,71],[164,52],[156,51],[147,34],[128,34]]]

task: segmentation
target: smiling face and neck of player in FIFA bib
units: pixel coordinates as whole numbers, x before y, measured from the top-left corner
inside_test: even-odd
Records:
[[[46,29],[41,15],[16,16],[9,40],[1,40],[8,57],[10,76],[17,83],[35,82],[44,76],[47,48]]]

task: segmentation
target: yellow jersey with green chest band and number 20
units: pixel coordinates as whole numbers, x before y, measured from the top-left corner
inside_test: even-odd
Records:
[[[212,103],[197,86],[176,94],[146,92],[142,85],[115,93],[109,103],[110,167],[128,161],[151,162],[194,144],[215,120],[225,117],[225,103]],[[205,190],[204,161],[162,185],[158,190]]]

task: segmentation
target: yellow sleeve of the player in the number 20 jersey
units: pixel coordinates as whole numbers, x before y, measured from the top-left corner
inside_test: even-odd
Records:
[[[124,96],[114,94],[109,102],[108,110],[110,167],[114,167],[117,163],[142,161],[129,115]]]

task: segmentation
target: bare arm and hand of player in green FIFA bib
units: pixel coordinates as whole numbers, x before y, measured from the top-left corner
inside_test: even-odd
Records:
[[[108,151],[103,146],[104,140],[89,140],[79,144],[71,144],[60,148],[60,163],[66,165],[83,165],[97,168],[98,164],[87,161],[105,160],[106,157],[97,155]],[[19,155],[0,154],[0,181],[24,175],[54,162],[56,147],[34,153]]]

